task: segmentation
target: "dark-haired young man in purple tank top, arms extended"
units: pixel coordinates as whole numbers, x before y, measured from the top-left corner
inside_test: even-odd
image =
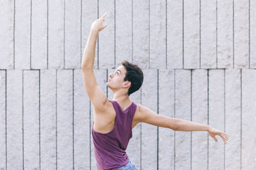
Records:
[[[216,142],[218,140],[215,136],[219,135],[226,144],[228,136],[225,132],[209,125],[158,115],[141,104],[133,103],[129,95],[140,89],[143,72],[136,64],[126,60],[122,61],[122,65],[114,73],[109,74],[106,85],[113,91],[114,96],[109,101],[97,87],[93,72],[97,35],[107,26],[103,25],[105,17],[106,13],[93,22],[81,64],[84,86],[93,104],[92,136],[97,168],[136,169],[125,150],[132,137],[132,128],[139,122],[170,128],[173,131],[207,131]]]

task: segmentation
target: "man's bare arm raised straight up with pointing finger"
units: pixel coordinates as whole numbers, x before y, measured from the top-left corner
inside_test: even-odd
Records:
[[[97,42],[97,36],[99,31],[104,29],[106,25],[103,25],[106,13],[101,18],[95,20],[92,24],[89,38],[86,42],[86,46],[83,53],[83,59],[81,63],[81,69],[83,71],[84,87],[92,101],[93,107],[99,112],[103,110],[104,104],[108,101],[108,97],[99,89],[97,85],[96,76],[93,71],[93,65],[95,60],[95,46]]]

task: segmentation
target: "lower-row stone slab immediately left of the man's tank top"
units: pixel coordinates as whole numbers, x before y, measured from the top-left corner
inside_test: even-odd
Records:
[[[83,71],[74,70],[74,168],[90,169],[90,100]]]

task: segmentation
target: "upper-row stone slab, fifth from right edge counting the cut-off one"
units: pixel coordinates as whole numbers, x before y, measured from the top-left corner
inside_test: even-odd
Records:
[[[200,68],[199,7],[199,1],[184,1],[184,68]]]

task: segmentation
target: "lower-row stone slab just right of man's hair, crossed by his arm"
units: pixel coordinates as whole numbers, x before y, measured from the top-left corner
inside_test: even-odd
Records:
[[[141,104],[157,113],[157,69],[143,69]],[[157,127],[141,124],[141,169],[157,169]]]

